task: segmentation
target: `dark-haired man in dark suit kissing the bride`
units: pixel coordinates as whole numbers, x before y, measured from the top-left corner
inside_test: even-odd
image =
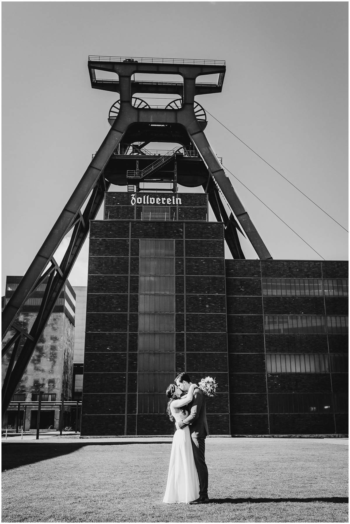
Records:
[[[187,393],[192,384],[187,373],[180,373],[175,379],[176,385]],[[208,468],[205,464],[205,437],[209,434],[208,424],[205,414],[205,396],[197,387],[193,391],[193,400],[189,403],[190,413],[187,418],[179,421],[177,424],[180,429],[190,426],[192,437],[192,450],[195,466],[199,479],[199,498],[190,502],[190,504],[206,504],[208,498]]]

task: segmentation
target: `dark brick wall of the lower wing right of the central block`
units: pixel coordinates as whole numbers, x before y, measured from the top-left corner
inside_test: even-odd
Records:
[[[332,326],[347,318],[347,296],[331,296],[330,291],[330,280],[347,279],[347,263],[225,264],[232,434],[347,433],[347,334],[345,325]],[[268,296],[266,279],[297,279],[303,291],[299,296]],[[316,296],[303,296],[310,280],[306,293]],[[305,326],[289,327],[288,332],[282,326],[278,333],[270,330],[271,317],[280,319],[276,325]],[[319,325],[308,328],[310,322]],[[279,366],[285,367],[283,372],[278,373]]]

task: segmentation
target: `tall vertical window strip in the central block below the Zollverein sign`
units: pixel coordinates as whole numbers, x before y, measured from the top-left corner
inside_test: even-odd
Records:
[[[138,413],[165,413],[165,390],[174,379],[174,251],[173,240],[140,239]]]

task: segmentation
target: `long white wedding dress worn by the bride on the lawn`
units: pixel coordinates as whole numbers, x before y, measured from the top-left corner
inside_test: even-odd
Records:
[[[185,413],[173,413],[175,421],[187,417]],[[168,482],[163,503],[190,502],[199,497],[199,481],[192,451],[190,428],[176,430],[172,439]]]

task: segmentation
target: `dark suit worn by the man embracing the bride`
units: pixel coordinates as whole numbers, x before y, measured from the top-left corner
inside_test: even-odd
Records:
[[[189,403],[189,416],[181,422],[189,425],[192,437],[192,450],[199,478],[199,496],[208,496],[208,468],[205,464],[205,437],[209,434],[205,414],[205,395],[199,388],[193,391],[193,400]]]

